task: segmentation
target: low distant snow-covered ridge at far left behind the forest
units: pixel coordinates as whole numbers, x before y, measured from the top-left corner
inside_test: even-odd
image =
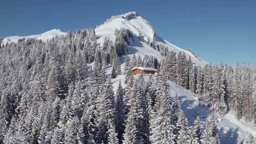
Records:
[[[48,39],[51,39],[55,36],[61,36],[61,35],[65,35],[66,33],[62,32],[60,29],[52,29],[50,31],[47,31],[43,34],[39,34],[39,35],[31,35],[31,36],[8,36],[8,37],[5,37],[3,39],[3,44],[6,44],[8,42],[14,42],[14,43],[17,43],[19,39],[22,39],[22,38],[36,38],[36,39],[41,39],[42,41],[46,41]]]

